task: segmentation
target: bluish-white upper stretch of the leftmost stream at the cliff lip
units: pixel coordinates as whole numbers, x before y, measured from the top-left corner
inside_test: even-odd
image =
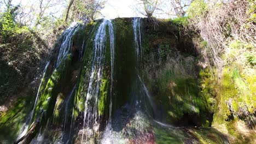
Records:
[[[67,30],[63,33],[64,35],[64,40],[61,44],[60,51],[59,51],[59,56],[57,59],[57,67],[60,65],[62,59],[64,59],[71,48],[71,38],[77,32],[79,29],[78,22],[73,22],[71,25],[67,28]]]

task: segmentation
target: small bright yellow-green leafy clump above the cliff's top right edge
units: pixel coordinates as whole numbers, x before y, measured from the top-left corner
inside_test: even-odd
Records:
[[[203,0],[195,0],[190,4],[188,9],[188,16],[190,19],[194,19],[195,17],[202,17],[208,11],[208,5]]]

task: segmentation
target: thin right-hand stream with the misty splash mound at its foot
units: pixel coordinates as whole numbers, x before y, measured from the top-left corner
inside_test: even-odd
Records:
[[[113,122],[108,124],[104,130],[101,143],[132,143],[127,137],[132,137],[135,143],[148,143],[148,140],[153,139],[152,132],[149,130],[148,116],[144,114],[141,107],[141,100],[137,97],[140,93],[140,89],[143,88],[146,91],[148,97],[150,97],[146,86],[140,79],[139,64],[140,56],[142,56],[141,46],[141,18],[135,17],[133,19],[133,34],[136,50],[136,77],[133,80],[133,87],[131,87],[131,101],[130,104],[122,106],[117,112],[115,112]],[[143,87],[141,87],[141,85]],[[150,104],[153,105],[152,99]],[[153,106],[152,106],[153,107]],[[142,109],[141,109],[142,108]],[[119,131],[118,129],[123,129]],[[141,139],[136,141],[135,139]]]

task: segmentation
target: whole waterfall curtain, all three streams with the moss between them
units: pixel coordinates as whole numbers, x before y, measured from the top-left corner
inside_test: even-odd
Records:
[[[117,19],[113,20],[114,27],[110,20],[88,23],[83,28],[80,24],[72,23],[62,35],[63,43],[57,45],[56,50],[60,52],[54,55],[55,69],[53,59],[45,65],[29,116],[34,115],[33,119],[39,117],[38,121],[42,118],[43,124],[39,125],[31,143],[196,141],[194,127],[174,127],[170,125],[168,117],[156,121],[159,113],[166,116],[165,107],[160,106],[164,103],[159,95],[150,95],[150,92],[155,94],[155,90],[158,91],[155,85],[150,85],[152,81],[143,81],[148,76],[142,67],[147,68],[148,52],[143,51],[142,57],[141,33],[148,34],[148,29],[141,29],[142,20],[147,22],[139,17]],[[127,23],[129,26],[124,26]],[[147,35],[143,37],[145,49],[147,39]],[[52,67],[48,69],[48,65]],[[51,76],[47,75],[50,71],[53,71]],[[41,86],[44,77],[49,77],[49,80],[44,83],[45,86]],[[151,86],[150,89],[147,86]],[[45,88],[42,91],[40,87]],[[196,110],[193,97],[190,96],[191,104]],[[101,98],[104,98],[103,102]],[[159,101],[156,102],[156,99]],[[156,106],[163,111],[156,109]],[[37,111],[36,107],[40,109]],[[32,126],[37,127],[34,123]],[[19,138],[26,134],[29,124],[31,122],[22,125]],[[192,131],[191,134],[188,131]]]

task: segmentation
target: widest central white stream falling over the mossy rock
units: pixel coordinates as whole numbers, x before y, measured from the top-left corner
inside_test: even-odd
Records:
[[[110,61],[111,61],[111,93],[112,93],[112,85],[113,85],[113,68],[114,68],[114,32],[113,32],[113,25],[110,20],[103,20],[101,25],[98,27],[98,31],[95,35],[94,39],[94,58],[92,60],[91,66],[91,74],[90,74],[90,81],[88,92],[86,94],[86,101],[85,101],[85,111],[84,111],[84,126],[83,126],[83,135],[82,135],[82,142],[84,139],[84,129],[89,130],[92,126],[92,129],[98,128],[99,119],[97,119],[97,103],[99,97],[99,88],[100,82],[102,79],[102,72],[103,72],[103,58],[104,58],[104,49],[106,48],[106,26],[109,27],[109,37],[110,37]],[[112,94],[110,94],[110,97]],[[110,106],[112,107],[112,102],[110,98]],[[109,112],[111,112],[109,108]],[[109,113],[109,116],[111,114]],[[87,121],[86,121],[87,120]],[[92,132],[94,134],[94,131]],[[87,140],[87,135],[86,135]]]

